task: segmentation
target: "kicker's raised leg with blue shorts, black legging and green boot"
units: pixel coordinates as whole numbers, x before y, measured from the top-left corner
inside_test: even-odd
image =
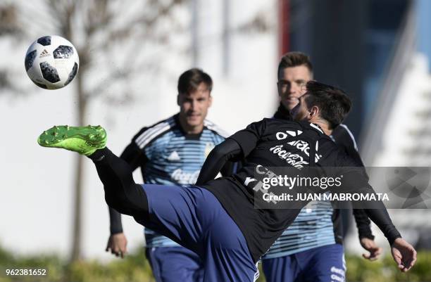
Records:
[[[257,268],[242,231],[211,192],[197,186],[151,184],[142,185],[139,190],[127,163],[104,148],[106,136],[101,142],[103,149],[96,151],[92,147],[101,146],[98,142],[103,134],[89,127],[69,130],[73,134],[66,132],[63,136],[63,129],[50,129],[48,134],[42,134],[48,135],[49,140],[42,140],[40,136],[39,144],[73,150],[92,158],[104,182],[108,205],[197,252],[204,259],[204,281],[255,280]]]

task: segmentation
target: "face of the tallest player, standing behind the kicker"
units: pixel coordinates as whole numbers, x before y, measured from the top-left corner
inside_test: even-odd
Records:
[[[285,68],[278,74],[278,96],[287,110],[292,110],[298,98],[306,92],[305,85],[313,79],[305,65]]]

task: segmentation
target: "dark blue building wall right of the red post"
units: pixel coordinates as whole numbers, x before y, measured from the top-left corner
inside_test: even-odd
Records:
[[[420,1],[426,2],[421,5],[431,4]],[[346,124],[356,137],[361,134],[364,117],[373,110],[409,3],[289,0],[290,51],[311,55],[315,78],[350,94],[354,108]]]

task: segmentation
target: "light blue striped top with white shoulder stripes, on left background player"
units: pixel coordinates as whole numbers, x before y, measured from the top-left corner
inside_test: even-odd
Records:
[[[211,150],[225,140],[227,134],[213,122],[204,121],[200,134],[186,134],[178,115],[144,127],[132,139],[143,153],[139,166],[146,184],[195,184],[200,169]],[[144,229],[146,246],[176,246],[177,243],[150,229]]]

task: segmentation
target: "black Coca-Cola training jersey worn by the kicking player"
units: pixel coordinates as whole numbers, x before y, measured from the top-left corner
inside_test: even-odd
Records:
[[[289,209],[255,208],[255,205],[260,206],[259,203],[255,203],[255,191],[253,190],[254,184],[256,184],[254,183],[256,180],[254,172],[258,165],[295,167],[296,169],[309,166],[357,165],[342,150],[339,150],[318,125],[308,122],[264,119],[250,124],[246,129],[230,136],[229,140],[236,141],[241,147],[245,157],[244,166],[232,177],[208,181],[203,186],[218,198],[239,229],[242,230],[255,261],[270,248],[307,203],[292,201]],[[220,146],[223,147],[223,143]],[[206,162],[211,162],[208,159]],[[364,183],[361,187],[367,191],[373,191],[365,177],[362,180]],[[263,201],[261,197],[256,197],[256,200],[258,199]],[[389,240],[394,240],[396,236],[399,236],[387,213],[383,214],[381,222],[379,220],[377,222],[377,225],[380,224],[379,226],[385,229],[382,231]]]

